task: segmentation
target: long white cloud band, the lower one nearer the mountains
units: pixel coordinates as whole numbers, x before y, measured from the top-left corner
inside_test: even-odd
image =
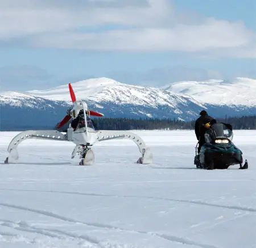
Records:
[[[240,33],[237,36],[237,33]],[[139,28],[100,33],[64,32],[36,37],[39,47],[77,48],[97,51],[185,51],[238,48],[250,43],[253,34],[240,24],[208,20],[197,26],[177,24],[174,28]]]

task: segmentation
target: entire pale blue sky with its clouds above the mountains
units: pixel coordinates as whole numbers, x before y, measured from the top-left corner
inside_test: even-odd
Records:
[[[0,91],[256,78],[251,0],[0,0]]]

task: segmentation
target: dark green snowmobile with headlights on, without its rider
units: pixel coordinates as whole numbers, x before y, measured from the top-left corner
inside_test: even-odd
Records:
[[[215,123],[209,127],[204,134],[205,144],[198,152],[196,145],[196,156],[194,165],[199,169],[228,169],[230,165],[240,165],[240,169],[248,169],[247,159],[243,163],[242,151],[233,144],[232,125]]]

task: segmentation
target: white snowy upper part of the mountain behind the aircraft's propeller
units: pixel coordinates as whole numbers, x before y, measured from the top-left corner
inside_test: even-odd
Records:
[[[139,106],[169,106],[177,107],[177,104],[191,102],[199,104],[196,100],[184,94],[175,94],[154,87],[127,85],[109,78],[93,78],[72,83],[77,99],[93,101],[97,103],[108,102],[115,104],[136,104]],[[63,100],[71,102],[68,85],[43,90],[28,91],[29,94],[51,100]],[[199,104],[203,107],[202,104]]]

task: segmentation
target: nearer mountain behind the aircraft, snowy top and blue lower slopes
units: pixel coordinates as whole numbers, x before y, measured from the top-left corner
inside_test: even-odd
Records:
[[[203,104],[171,91],[126,85],[109,78],[72,83],[77,99],[106,117],[193,119]],[[71,105],[68,85],[49,90],[0,93],[0,129],[53,128]]]

